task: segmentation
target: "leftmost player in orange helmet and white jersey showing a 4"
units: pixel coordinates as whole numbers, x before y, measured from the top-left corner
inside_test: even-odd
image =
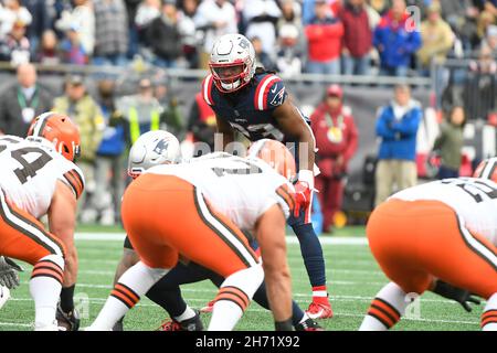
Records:
[[[80,132],[67,116],[45,113],[27,139],[0,138],[0,254],[34,266],[35,330],[57,330],[61,288],[74,284],[76,200],[84,190]],[[40,217],[47,215],[50,233]]]

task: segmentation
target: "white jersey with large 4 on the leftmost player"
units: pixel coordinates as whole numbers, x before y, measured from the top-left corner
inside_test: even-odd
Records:
[[[0,137],[0,189],[7,199],[36,218],[46,214],[57,180],[66,183],[76,197],[84,190],[80,168],[46,140]]]

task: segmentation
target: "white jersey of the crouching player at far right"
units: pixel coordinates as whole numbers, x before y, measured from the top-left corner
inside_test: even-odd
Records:
[[[390,199],[441,201],[459,215],[467,229],[497,246],[497,184],[490,180],[444,179],[409,188]]]

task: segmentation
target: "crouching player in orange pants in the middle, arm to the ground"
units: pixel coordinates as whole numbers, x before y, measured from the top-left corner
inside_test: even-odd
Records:
[[[180,258],[225,278],[209,330],[232,330],[264,275],[275,327],[292,330],[285,222],[295,205],[295,161],[279,142],[264,157],[277,173],[263,160],[224,154],[154,167],[136,179],[123,197],[123,222],[140,261],[119,278],[89,330],[110,330]],[[263,265],[239,226],[255,229]]]

